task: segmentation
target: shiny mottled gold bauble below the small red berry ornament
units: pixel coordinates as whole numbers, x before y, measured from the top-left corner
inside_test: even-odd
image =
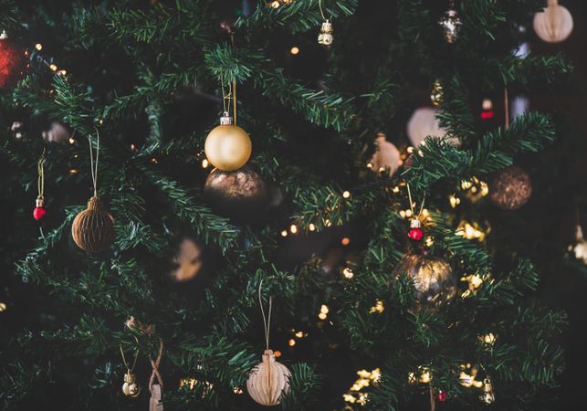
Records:
[[[414,281],[416,298],[426,307],[437,307],[456,295],[456,278],[444,259],[407,254],[393,271],[395,277]]]

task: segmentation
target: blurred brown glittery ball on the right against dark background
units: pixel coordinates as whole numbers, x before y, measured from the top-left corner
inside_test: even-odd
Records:
[[[510,165],[493,176],[489,183],[491,201],[504,210],[517,210],[532,195],[532,182],[528,173]]]

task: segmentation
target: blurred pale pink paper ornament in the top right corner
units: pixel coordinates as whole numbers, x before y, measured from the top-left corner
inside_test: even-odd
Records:
[[[572,16],[559,0],[548,0],[548,6],[534,15],[534,31],[547,43],[560,43],[571,35]]]

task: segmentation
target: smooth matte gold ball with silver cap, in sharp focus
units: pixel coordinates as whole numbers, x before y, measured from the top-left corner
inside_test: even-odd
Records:
[[[252,152],[251,139],[233,118],[225,113],[220,125],[206,137],[204,152],[208,162],[223,171],[233,171],[246,164]]]

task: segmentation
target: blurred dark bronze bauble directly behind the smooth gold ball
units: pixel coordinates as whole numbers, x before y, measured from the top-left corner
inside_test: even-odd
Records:
[[[239,220],[260,216],[268,202],[267,185],[248,165],[234,171],[212,170],[204,196],[217,213]]]

